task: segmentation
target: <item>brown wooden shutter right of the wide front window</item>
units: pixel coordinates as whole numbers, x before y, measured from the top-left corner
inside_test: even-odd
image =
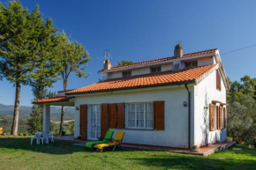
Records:
[[[164,130],[164,101],[154,101],[154,129]]]

